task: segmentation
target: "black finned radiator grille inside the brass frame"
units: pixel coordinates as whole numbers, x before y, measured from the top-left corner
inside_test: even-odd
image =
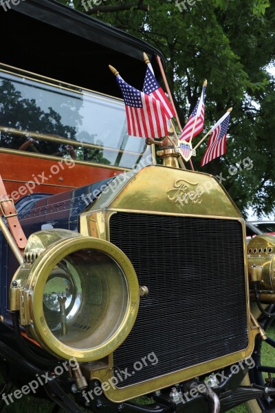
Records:
[[[131,373],[118,387],[248,347],[239,222],[115,213],[110,240],[129,257],[140,285],[149,290],[140,300],[133,330],[113,354],[115,371],[127,368]],[[152,352],[158,363],[151,355],[154,366],[147,361],[137,371],[137,363],[135,370],[134,363]]]

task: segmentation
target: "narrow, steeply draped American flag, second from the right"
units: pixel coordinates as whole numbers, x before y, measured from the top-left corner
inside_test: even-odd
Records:
[[[194,134],[192,138],[195,138],[202,130],[203,130],[203,123],[204,123],[204,96],[206,94],[206,86],[202,87],[201,97],[197,101],[197,105],[195,106],[192,114],[190,114],[190,118],[188,119],[184,130],[181,132],[181,136],[179,136],[180,140],[186,140],[188,142],[192,136],[192,130],[194,128]],[[196,120],[197,117],[197,120]],[[195,123],[196,120],[196,123]]]

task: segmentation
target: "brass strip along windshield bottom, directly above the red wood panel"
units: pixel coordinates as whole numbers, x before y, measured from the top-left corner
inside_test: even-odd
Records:
[[[59,140],[60,142],[60,140]],[[17,156],[26,156],[27,158],[39,158],[39,159],[45,159],[45,160],[56,160],[58,162],[62,162],[68,158],[60,158],[58,156],[52,156],[52,155],[43,155],[42,153],[30,153],[30,152],[25,152],[25,151],[18,151],[17,149],[5,149],[5,148],[0,148],[0,153],[8,153],[9,155],[17,155]],[[96,168],[104,168],[104,169],[113,169],[115,171],[131,171],[132,169],[129,168],[122,168],[122,167],[115,167],[113,165],[104,165],[100,163],[94,163],[94,162],[89,162],[89,161],[84,161],[84,160],[74,160],[72,159],[72,163],[76,165],[84,165],[85,167],[96,167]]]

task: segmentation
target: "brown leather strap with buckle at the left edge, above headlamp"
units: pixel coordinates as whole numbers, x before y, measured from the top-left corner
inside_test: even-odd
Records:
[[[14,237],[15,242],[21,249],[23,253],[25,246],[27,244],[27,238],[23,233],[23,229],[19,222],[17,216],[17,210],[14,207],[14,202],[12,198],[8,198],[7,191],[5,190],[5,185],[3,184],[3,180],[0,175],[0,214],[3,215],[10,228],[10,233],[12,237]]]

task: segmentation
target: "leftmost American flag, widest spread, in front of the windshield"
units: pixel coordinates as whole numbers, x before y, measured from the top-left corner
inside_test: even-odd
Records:
[[[168,135],[164,105],[126,83],[120,75],[116,76],[116,80],[125,103],[128,134],[140,138]]]

